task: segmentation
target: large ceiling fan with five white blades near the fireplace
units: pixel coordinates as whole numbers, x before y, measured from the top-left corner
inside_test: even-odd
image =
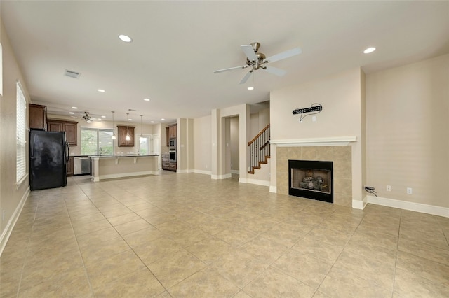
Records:
[[[257,71],[257,69],[263,69],[264,71],[273,73],[276,76],[283,76],[287,73],[287,71],[284,71],[283,69],[277,69],[273,66],[267,66],[266,64],[269,62],[276,62],[281,59],[299,55],[302,52],[300,48],[293,48],[291,50],[280,52],[279,54],[267,58],[262,52],[259,52],[260,43],[255,42],[250,43],[249,45],[241,45],[240,47],[246,55],[246,65],[230,67],[229,69],[219,69],[217,71],[214,71],[213,73],[231,71],[232,69],[246,69],[247,67],[250,67],[250,71],[248,71],[248,73],[246,73],[246,75],[240,80],[239,84],[246,83],[253,71]]]

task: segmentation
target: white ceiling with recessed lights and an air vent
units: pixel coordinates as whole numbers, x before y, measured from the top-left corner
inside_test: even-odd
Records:
[[[449,52],[449,1],[1,1],[1,20],[29,95],[48,113],[173,122],[214,108],[255,104],[270,90],[361,66],[366,73]],[[133,38],[123,43],[119,34]],[[267,57],[248,69],[240,45]],[[365,55],[363,50],[377,50]],[[66,69],[80,78],[63,76]],[[248,91],[248,85],[255,90]],[[98,88],[106,90],[97,92]],[[145,97],[151,101],[143,101]],[[135,112],[128,112],[134,109]]]

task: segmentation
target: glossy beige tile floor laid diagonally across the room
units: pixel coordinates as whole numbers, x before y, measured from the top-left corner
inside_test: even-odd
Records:
[[[449,297],[449,218],[195,173],[68,181],[31,193],[1,297]]]

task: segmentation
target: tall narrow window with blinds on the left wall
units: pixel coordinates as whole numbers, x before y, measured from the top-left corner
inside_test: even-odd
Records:
[[[16,98],[16,118],[15,118],[15,133],[16,133],[16,141],[15,141],[15,150],[16,150],[16,173],[15,173],[15,181],[20,184],[25,178],[27,171],[27,150],[26,150],[26,126],[27,121],[25,120],[27,115],[27,100],[22,92],[22,87],[20,87],[20,83],[16,83],[17,88],[17,98]]]

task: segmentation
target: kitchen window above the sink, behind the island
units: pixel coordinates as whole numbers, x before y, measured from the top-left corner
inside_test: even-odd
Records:
[[[81,128],[81,155],[112,155],[112,129]]]

